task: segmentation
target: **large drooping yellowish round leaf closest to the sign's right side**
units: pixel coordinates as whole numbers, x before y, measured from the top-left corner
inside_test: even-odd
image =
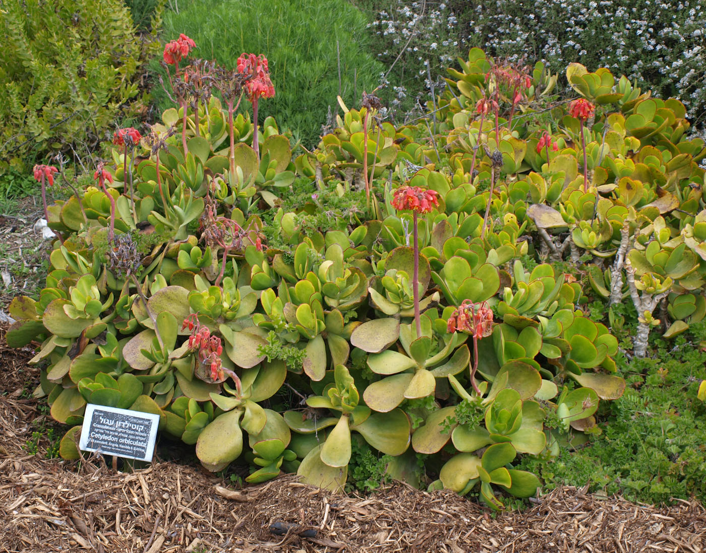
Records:
[[[222,413],[201,431],[196,440],[196,456],[204,466],[227,464],[240,456],[243,451],[241,415],[240,409]]]

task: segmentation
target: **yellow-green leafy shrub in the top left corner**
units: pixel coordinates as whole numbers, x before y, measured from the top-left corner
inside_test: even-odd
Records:
[[[0,9],[0,171],[95,147],[139,94],[143,46],[128,8],[121,0],[3,0]]]

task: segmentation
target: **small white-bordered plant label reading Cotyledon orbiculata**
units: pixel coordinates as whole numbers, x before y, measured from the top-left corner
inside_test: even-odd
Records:
[[[138,461],[152,461],[160,415],[102,405],[86,406],[78,447]]]

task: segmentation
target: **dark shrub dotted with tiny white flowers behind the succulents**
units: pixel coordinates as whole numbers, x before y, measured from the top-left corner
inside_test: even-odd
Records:
[[[561,74],[572,61],[607,67],[657,97],[678,97],[700,128],[706,121],[706,6],[698,0],[351,1],[369,17],[385,65],[414,35],[388,75],[390,90],[407,96],[429,91],[426,59],[436,78],[459,51],[477,46],[542,60]],[[414,105],[399,96],[403,107]]]

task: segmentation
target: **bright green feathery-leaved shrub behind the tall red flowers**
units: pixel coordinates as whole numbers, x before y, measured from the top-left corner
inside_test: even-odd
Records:
[[[190,0],[179,2],[179,13],[164,14],[163,37],[183,32],[196,41],[194,57],[229,68],[243,52],[265,54],[276,95],[260,103],[261,121],[275,116],[305,145],[315,145],[328,107],[338,108],[336,41],[340,93],[349,107],[378,83],[382,66],[369,54],[365,25],[365,16],[342,0]],[[172,107],[158,83],[153,93],[160,111]]]

